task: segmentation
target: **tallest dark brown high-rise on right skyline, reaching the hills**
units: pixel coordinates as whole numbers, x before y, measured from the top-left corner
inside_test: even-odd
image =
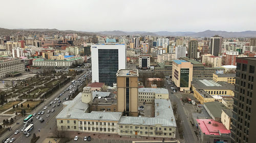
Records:
[[[219,56],[222,48],[222,37],[215,35],[214,37],[210,38],[210,54]]]

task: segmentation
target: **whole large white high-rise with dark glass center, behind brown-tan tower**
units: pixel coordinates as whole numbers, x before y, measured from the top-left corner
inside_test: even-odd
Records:
[[[126,69],[126,50],[124,44],[91,46],[92,82],[103,82],[113,87],[118,70]]]

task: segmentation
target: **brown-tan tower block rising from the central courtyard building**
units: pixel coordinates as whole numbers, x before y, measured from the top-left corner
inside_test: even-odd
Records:
[[[118,70],[117,78],[117,110],[125,111],[129,116],[138,116],[138,77],[139,71]]]

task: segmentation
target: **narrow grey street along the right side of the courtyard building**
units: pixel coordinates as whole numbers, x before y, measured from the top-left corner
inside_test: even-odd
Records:
[[[181,100],[180,100],[180,98],[177,98],[177,96],[176,96],[176,95],[178,95],[178,96],[180,95],[179,92],[172,94],[170,85],[168,85],[167,82],[165,84],[166,84],[166,89],[168,89],[168,91],[169,91],[169,99],[172,101],[172,103],[173,103],[173,101],[177,103],[177,112],[179,113],[180,118],[181,118],[181,122],[182,122],[182,126],[183,126],[183,136],[184,136],[185,142],[189,142],[189,143],[198,142],[196,135],[193,131],[193,128],[191,127],[191,125],[186,117],[186,114],[183,110]]]

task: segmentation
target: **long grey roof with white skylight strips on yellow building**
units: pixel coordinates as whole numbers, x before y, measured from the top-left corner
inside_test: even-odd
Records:
[[[193,78],[191,85],[197,90],[234,90],[234,85],[225,81]]]

